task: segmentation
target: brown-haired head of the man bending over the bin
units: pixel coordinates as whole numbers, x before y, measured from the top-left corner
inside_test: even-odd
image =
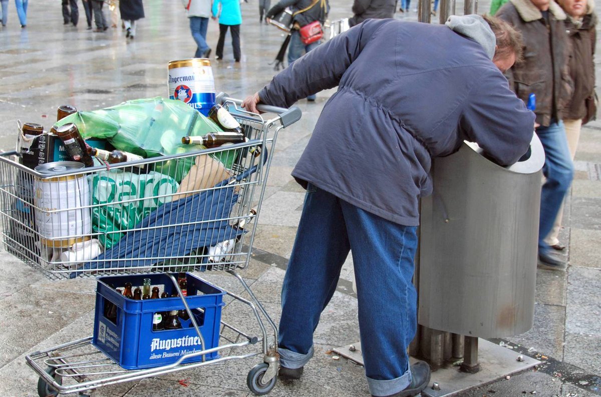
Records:
[[[492,61],[503,73],[515,62],[522,61],[522,34],[502,19],[484,15],[496,38],[495,56]]]

